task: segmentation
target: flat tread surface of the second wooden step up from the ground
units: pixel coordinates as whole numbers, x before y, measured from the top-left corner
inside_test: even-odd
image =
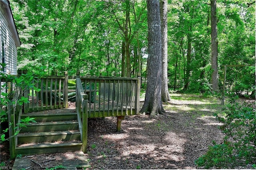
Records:
[[[79,130],[64,130],[64,131],[51,131],[51,132],[25,132],[18,134],[18,137],[31,137],[31,136],[56,136],[66,134],[80,134]]]

